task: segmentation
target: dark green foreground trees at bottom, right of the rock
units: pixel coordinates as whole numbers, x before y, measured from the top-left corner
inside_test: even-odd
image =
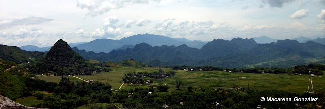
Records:
[[[110,103],[111,86],[100,82],[71,82],[62,76],[52,95],[44,97],[44,101],[36,107],[42,108],[76,108],[88,103]]]

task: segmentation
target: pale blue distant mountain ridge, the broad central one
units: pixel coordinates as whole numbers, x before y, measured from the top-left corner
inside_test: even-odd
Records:
[[[206,42],[201,41],[190,41],[185,38],[171,38],[162,35],[153,35],[153,34],[138,34],[130,37],[122,38],[120,40],[112,39],[96,39],[88,43],[79,44],[76,47],[78,49],[84,49],[86,51],[93,51],[96,53],[105,52],[109,53],[114,49],[120,48],[123,45],[136,45],[139,43],[148,43],[151,46],[162,46],[162,45],[174,45],[179,46],[186,44],[190,47],[201,48]]]

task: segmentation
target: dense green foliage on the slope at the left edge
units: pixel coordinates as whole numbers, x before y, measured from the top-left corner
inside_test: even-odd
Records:
[[[9,70],[6,71],[6,69]],[[0,94],[10,99],[17,99],[29,96],[35,90],[53,91],[57,85],[38,78],[33,79],[30,76],[32,75],[25,68],[12,62],[0,60]]]

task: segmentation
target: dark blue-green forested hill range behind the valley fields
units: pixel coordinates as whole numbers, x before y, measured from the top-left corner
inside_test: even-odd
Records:
[[[201,49],[180,46],[150,46],[140,43],[134,48],[95,53],[73,48],[86,59],[120,62],[135,59],[152,66],[218,66],[218,67],[293,67],[299,64],[325,63],[325,45],[309,41],[279,40],[270,44],[257,44],[254,39],[236,38],[231,41],[213,40]]]

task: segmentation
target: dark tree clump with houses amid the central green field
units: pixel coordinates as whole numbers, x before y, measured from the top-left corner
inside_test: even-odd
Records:
[[[172,77],[175,75],[175,71],[162,71],[162,75],[159,75],[159,72],[130,72],[130,73],[124,73],[124,77],[123,77],[123,82],[124,83],[133,83],[133,84],[143,84],[146,83],[144,81],[144,78],[146,77],[150,77],[150,78],[154,78],[154,79],[158,79],[159,76],[165,78],[165,77]]]

